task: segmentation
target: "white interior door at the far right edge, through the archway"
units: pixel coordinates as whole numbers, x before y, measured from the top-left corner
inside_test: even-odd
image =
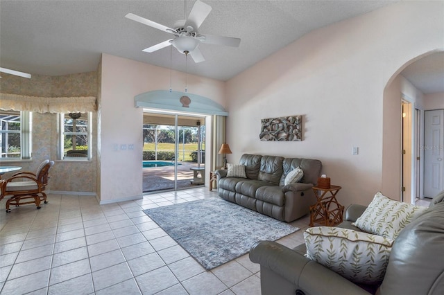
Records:
[[[443,190],[444,109],[425,111],[424,116],[424,196],[434,197]]]

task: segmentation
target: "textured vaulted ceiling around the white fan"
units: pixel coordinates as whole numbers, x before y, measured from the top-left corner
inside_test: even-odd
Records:
[[[311,30],[397,2],[203,1],[212,11],[200,33],[241,38],[238,48],[200,44],[205,62],[188,60],[189,73],[217,80],[229,80]],[[0,65],[40,75],[67,75],[96,71],[101,53],[108,53],[166,68],[171,64],[173,69],[185,71],[185,55],[175,48],[142,52],[171,35],[125,15],[133,12],[171,27],[189,15],[193,4],[191,0],[0,0]],[[441,70],[444,72],[443,67]],[[409,66],[405,71],[413,84],[416,77],[424,79],[425,72],[421,66]],[[422,84],[415,86],[421,89]]]

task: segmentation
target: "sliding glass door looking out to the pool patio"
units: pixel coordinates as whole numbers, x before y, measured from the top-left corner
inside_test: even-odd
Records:
[[[144,111],[143,191],[203,186],[205,118]]]

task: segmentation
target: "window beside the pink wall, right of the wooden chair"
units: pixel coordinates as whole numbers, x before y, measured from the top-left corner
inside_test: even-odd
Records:
[[[60,114],[60,159],[91,159],[91,113]]]

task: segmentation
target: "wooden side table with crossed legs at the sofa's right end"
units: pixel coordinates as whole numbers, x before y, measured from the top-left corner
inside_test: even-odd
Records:
[[[341,190],[341,186],[330,186],[330,188],[314,186],[312,189],[317,202],[310,206],[309,226],[314,226],[315,223],[321,226],[340,224],[343,220],[344,206],[339,204],[336,194]]]

